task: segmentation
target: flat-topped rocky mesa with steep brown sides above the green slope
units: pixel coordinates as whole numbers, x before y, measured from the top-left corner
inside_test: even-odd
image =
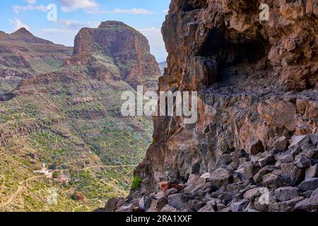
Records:
[[[98,28],[83,28],[74,41],[73,57],[65,66],[92,66],[100,80],[123,79],[133,87],[160,76],[148,40],[122,22],[102,22]]]

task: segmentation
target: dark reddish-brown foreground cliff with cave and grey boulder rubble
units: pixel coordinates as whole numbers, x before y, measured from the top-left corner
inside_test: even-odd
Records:
[[[199,120],[155,117],[143,182],[106,210],[316,210],[317,1],[172,0],[162,31],[159,90],[198,91]]]

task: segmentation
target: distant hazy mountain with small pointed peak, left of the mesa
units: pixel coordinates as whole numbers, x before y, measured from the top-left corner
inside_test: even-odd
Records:
[[[0,31],[0,101],[10,99],[25,78],[57,70],[72,49],[35,37],[25,28],[11,34]]]

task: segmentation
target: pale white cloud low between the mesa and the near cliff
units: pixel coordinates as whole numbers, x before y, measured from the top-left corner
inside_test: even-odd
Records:
[[[165,61],[167,52],[165,51],[165,42],[163,42],[163,35],[160,28],[148,27],[137,29],[148,39],[151,46],[151,53],[155,56],[157,61]]]

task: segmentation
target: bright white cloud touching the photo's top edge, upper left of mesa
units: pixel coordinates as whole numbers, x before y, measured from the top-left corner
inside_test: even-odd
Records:
[[[79,8],[92,9],[98,8],[98,3],[95,0],[57,0],[61,4],[61,10],[64,12],[76,11]]]

